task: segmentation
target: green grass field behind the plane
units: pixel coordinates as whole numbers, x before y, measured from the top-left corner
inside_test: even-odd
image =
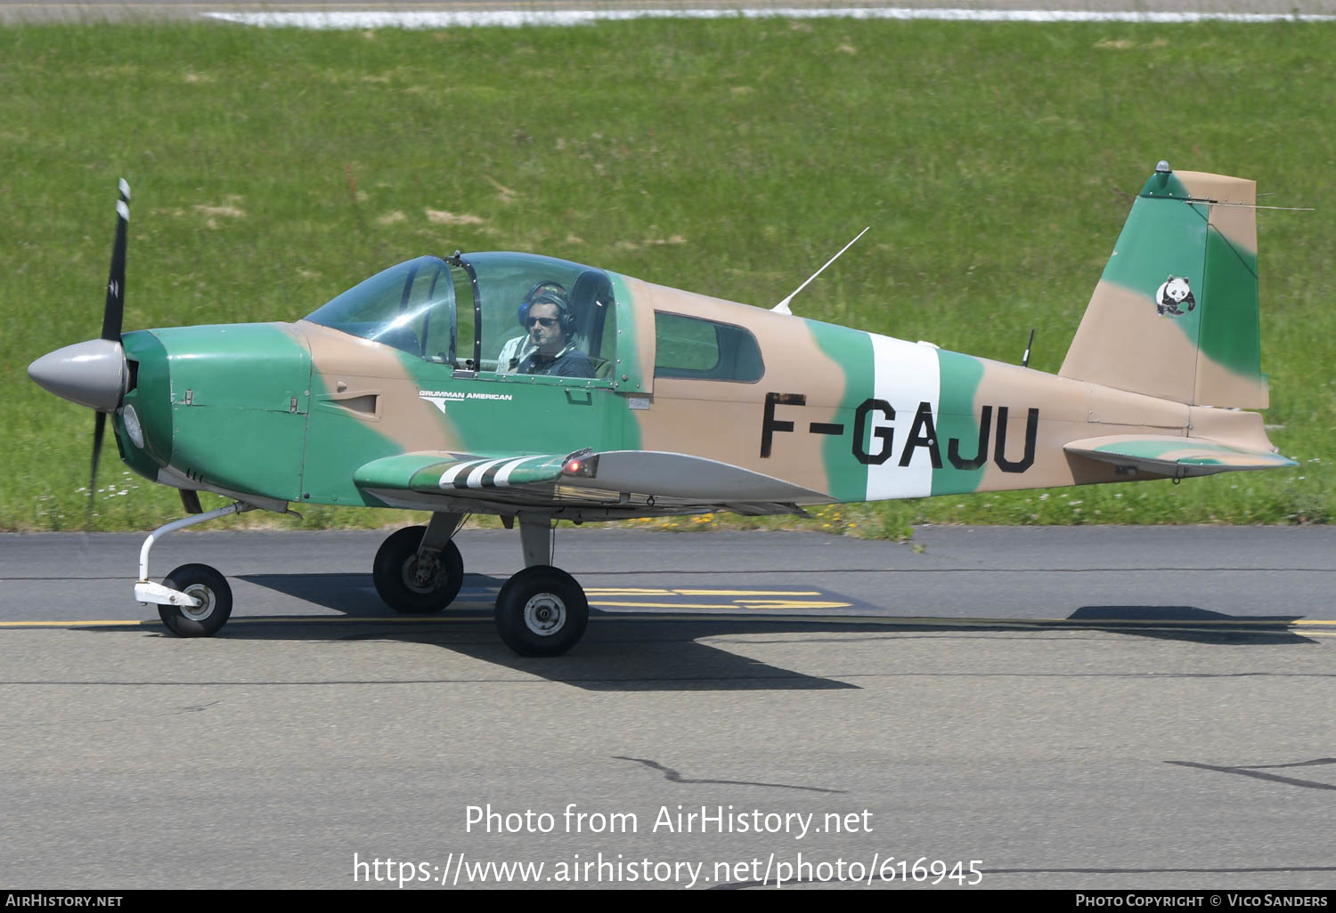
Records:
[[[1333,52],[1336,27],[1293,23],[0,29],[0,529],[180,514],[111,444],[90,514],[92,415],[24,375],[98,334],[119,176],[135,191],[127,330],[295,319],[456,248],[771,304],[871,224],[795,311],[1010,362],[1037,327],[1031,366],[1055,371],[1161,158],[1319,208],[1259,214],[1267,420],[1303,467],[839,506],[803,523],[1328,522]],[[311,509],[305,525],[391,522]],[[720,522],[795,521],[664,525]]]

